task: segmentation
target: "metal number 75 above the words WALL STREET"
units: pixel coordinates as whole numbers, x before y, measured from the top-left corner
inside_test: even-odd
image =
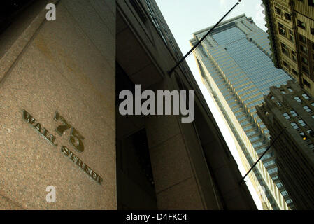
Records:
[[[69,141],[71,145],[76,149],[76,151],[83,152],[84,151],[83,139],[85,138],[80,133],[78,133],[78,130],[76,130],[69,123],[67,123],[64,117],[60,116],[60,114],[57,111],[55,113],[55,120],[60,120],[63,124],[59,125],[56,128],[56,132],[59,134],[59,136],[62,136],[62,134],[64,134],[66,130],[71,128]]]

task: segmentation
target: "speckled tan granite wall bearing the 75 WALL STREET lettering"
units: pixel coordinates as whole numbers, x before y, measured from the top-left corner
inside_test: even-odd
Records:
[[[115,1],[55,2],[56,21],[41,8],[0,55],[0,209],[116,209]],[[75,131],[73,146],[71,128],[55,131],[56,111],[84,137],[83,152]]]

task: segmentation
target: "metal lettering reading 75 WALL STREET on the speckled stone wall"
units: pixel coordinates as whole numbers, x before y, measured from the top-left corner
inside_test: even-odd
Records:
[[[48,132],[48,130],[46,130],[45,127],[43,127],[43,125],[41,125],[41,123],[39,123],[27,111],[23,109],[22,112],[23,112],[22,118],[27,123],[29,123],[29,125],[31,125],[31,127],[33,127],[36,130],[36,132],[41,134],[41,136],[43,136],[46,140],[48,140],[50,144],[52,144],[53,146],[56,146],[56,147],[58,146],[55,143],[56,138],[53,134],[50,134],[50,132]],[[59,136],[62,136],[66,130],[70,130],[69,142],[71,146],[73,146],[73,148],[79,153],[82,153],[84,151],[84,145],[83,145],[84,137],[78,132],[78,130],[72,127],[72,125],[67,123],[64,117],[60,116],[58,112],[55,113],[54,119],[62,123],[56,128],[55,132],[57,132]],[[74,162],[74,164],[76,164],[80,169],[82,169],[83,172],[89,175],[94,181],[97,181],[97,183],[99,184],[102,183],[103,179],[101,178],[101,176],[99,176],[96,172],[94,172],[94,170],[92,170],[89,166],[87,166],[85,162],[80,160],[80,158],[78,158],[77,155],[75,155],[71,150],[69,150],[69,148],[67,148],[66,146],[62,146],[61,152],[64,156],[69,157],[69,159],[72,162]]]

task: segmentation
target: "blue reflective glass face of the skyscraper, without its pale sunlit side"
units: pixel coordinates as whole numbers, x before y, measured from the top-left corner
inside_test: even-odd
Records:
[[[191,43],[195,44],[209,29],[194,33]],[[264,153],[269,146],[269,130],[257,116],[255,106],[264,102],[263,96],[269,93],[269,87],[280,87],[291,80],[287,73],[273,65],[266,32],[251,18],[241,15],[217,27],[194,55],[204,82],[211,85],[209,74],[257,154]],[[223,105],[219,97],[215,100],[217,105]],[[231,118],[226,119],[232,123]],[[267,153],[262,161],[273,179],[277,175],[273,154]],[[282,186],[280,180],[276,179],[276,185]],[[290,199],[288,195],[283,196],[287,196],[286,201]]]

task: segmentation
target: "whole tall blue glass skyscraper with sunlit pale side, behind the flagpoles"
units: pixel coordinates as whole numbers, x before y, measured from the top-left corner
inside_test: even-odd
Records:
[[[210,28],[194,33],[190,43],[197,43]],[[291,78],[273,66],[267,34],[245,15],[222,22],[194,51],[194,56],[208,91],[241,146],[242,162],[248,170],[269,146],[269,130],[257,116],[255,106],[264,101],[269,87],[280,86]],[[264,186],[271,204],[268,207],[283,209],[286,203],[282,197],[288,204],[291,200],[278,179],[274,159],[270,151],[250,175],[255,179],[255,188]]]

